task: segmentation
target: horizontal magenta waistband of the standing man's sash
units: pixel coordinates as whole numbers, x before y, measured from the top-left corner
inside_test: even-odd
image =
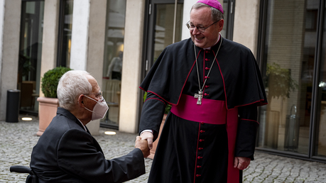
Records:
[[[194,96],[182,94],[179,104],[172,106],[171,112],[180,118],[210,124],[227,123],[227,108],[225,101],[202,99],[202,104],[197,105]]]

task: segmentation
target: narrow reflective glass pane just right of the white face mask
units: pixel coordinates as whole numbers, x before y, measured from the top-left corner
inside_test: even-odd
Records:
[[[104,45],[102,91],[104,99],[109,106],[109,111],[107,111],[105,118],[101,120],[101,126],[111,128],[119,126],[125,15],[126,0],[107,1],[107,29]]]

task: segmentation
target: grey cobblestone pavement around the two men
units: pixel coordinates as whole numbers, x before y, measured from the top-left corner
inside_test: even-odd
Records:
[[[38,141],[38,119],[6,123],[0,121],[0,182],[25,182],[27,174],[9,172],[11,165],[29,165],[31,152]],[[94,136],[101,145],[105,157],[112,159],[126,155],[134,149],[136,134],[121,133],[105,135],[100,128],[100,135]],[[326,183],[326,164],[296,160],[288,157],[268,155],[256,152],[249,168],[244,170],[244,182],[315,182]],[[146,158],[146,174],[129,182],[147,182],[152,160]]]

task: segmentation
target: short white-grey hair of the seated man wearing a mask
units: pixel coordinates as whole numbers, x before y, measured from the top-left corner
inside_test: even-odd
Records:
[[[89,94],[92,92],[92,84],[87,77],[92,76],[89,72],[83,70],[70,70],[60,78],[57,95],[59,106],[70,111],[80,94]]]

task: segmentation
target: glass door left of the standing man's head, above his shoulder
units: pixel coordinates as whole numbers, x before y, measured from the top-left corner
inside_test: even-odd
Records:
[[[183,1],[151,0],[148,4],[146,74],[164,48],[181,40]]]

